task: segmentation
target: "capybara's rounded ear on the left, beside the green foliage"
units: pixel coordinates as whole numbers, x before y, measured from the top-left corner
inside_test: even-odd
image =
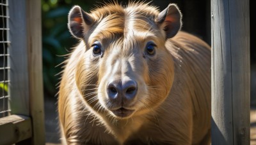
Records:
[[[88,31],[94,22],[93,17],[83,11],[80,6],[74,6],[68,14],[68,29],[76,38],[83,38],[84,32]]]

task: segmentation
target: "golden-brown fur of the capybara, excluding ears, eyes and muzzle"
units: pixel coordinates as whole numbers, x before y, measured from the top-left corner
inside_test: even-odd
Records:
[[[66,60],[61,79],[58,111],[63,144],[209,144],[210,47],[185,32],[166,40],[152,22],[158,13],[143,3],[127,8],[109,4],[91,12],[98,23]],[[131,28],[137,32],[132,34]],[[159,47],[157,58],[151,60],[134,55],[140,54],[148,35],[157,36]],[[108,46],[102,58],[92,57],[95,39]],[[147,86],[147,94],[136,104],[140,110],[128,119],[109,113],[102,106],[104,90],[99,90],[108,66],[116,62],[113,58],[120,57],[135,61],[131,70],[141,78],[135,74],[134,78]]]

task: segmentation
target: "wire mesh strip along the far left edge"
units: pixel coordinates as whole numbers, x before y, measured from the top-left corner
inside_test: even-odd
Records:
[[[10,67],[8,66],[8,46],[10,41],[8,34],[8,0],[1,0],[0,2],[0,118],[10,114],[10,95],[8,90],[8,73]]]

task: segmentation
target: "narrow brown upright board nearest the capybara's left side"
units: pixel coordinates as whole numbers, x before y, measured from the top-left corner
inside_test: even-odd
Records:
[[[45,144],[41,1],[27,0],[29,102],[33,144]]]

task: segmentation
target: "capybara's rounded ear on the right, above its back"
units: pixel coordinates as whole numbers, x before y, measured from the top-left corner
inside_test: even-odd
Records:
[[[166,32],[166,39],[177,34],[182,25],[182,15],[176,4],[169,4],[166,9],[157,16],[157,23]]]

